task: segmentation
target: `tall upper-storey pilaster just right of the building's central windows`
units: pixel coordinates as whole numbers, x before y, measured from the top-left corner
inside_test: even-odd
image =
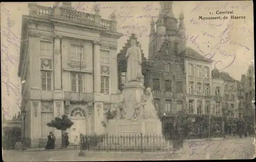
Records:
[[[101,84],[100,84],[100,42],[93,42],[94,44],[94,92],[101,92]]]

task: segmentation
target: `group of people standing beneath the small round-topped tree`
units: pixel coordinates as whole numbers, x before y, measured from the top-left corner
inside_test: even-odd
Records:
[[[55,148],[55,141],[56,141],[56,138],[55,138],[54,134],[50,131],[45,149],[46,150],[47,149],[54,149]],[[69,133],[67,133],[67,132],[64,135],[63,144],[64,144],[65,148],[67,148],[70,144],[70,142],[69,142]],[[76,138],[74,140],[74,145],[75,145],[74,147],[77,148],[78,136],[76,136]]]

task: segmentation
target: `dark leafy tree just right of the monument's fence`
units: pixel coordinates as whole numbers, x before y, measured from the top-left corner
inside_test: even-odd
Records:
[[[183,148],[184,139],[188,136],[188,119],[184,111],[178,112],[178,117],[174,123],[174,130],[170,140],[172,141],[174,151]]]

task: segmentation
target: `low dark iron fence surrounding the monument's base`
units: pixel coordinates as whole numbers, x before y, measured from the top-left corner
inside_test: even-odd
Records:
[[[80,149],[91,151],[156,152],[170,150],[170,142],[163,136],[137,135],[83,135],[80,134]]]

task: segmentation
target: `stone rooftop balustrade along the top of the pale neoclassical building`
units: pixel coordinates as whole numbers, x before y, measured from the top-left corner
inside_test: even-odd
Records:
[[[101,19],[100,15],[79,12],[72,8],[57,6],[45,7],[34,3],[29,4],[29,15],[45,19],[57,18],[69,22],[84,23],[97,26],[106,31],[116,32],[116,21]]]

